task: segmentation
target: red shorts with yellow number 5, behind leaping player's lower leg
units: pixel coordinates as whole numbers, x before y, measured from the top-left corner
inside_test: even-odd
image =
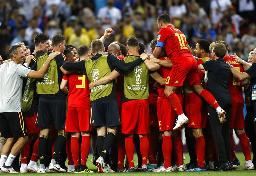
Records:
[[[176,122],[177,114],[172,108],[170,101],[158,99],[157,101],[157,119],[159,131],[172,130]]]

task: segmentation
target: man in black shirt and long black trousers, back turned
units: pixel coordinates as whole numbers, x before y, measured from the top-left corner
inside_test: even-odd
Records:
[[[226,47],[222,43],[212,43],[212,60],[198,65],[198,69],[208,70],[209,92],[216,98],[219,105],[226,110],[226,122],[218,118],[214,108],[209,106],[209,121],[212,135],[219,154],[219,165],[213,171],[226,171],[231,169],[230,142],[229,142],[229,119],[231,113],[231,98],[228,91],[228,81],[230,77],[230,67],[223,60],[226,54]],[[233,166],[232,166],[233,167]]]

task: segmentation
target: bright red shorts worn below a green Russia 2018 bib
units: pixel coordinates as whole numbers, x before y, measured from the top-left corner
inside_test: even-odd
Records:
[[[130,100],[122,103],[122,133],[148,134],[150,132],[148,100]]]

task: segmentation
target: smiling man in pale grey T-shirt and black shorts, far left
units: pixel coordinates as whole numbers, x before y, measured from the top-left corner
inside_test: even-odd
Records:
[[[11,61],[0,65],[0,130],[2,137],[8,138],[2,148],[1,172],[18,173],[12,162],[28,140],[27,126],[21,113],[23,78],[43,78],[50,62],[58,54],[54,52],[39,71],[34,71],[22,66],[25,52],[21,45],[14,45],[9,49]]]

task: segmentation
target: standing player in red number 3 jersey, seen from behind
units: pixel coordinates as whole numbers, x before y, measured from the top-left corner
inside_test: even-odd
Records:
[[[72,51],[73,52],[73,51]],[[90,48],[82,45],[78,49],[80,61],[91,58]],[[74,61],[74,59],[73,59]],[[67,89],[67,85],[69,90]],[[76,71],[70,75],[64,75],[60,89],[68,94],[68,112],[65,131],[71,132],[71,152],[75,164],[76,173],[92,173],[88,170],[86,161],[90,151],[90,89],[89,80],[81,71]],[[81,144],[81,165],[80,155],[80,133],[82,135]]]

